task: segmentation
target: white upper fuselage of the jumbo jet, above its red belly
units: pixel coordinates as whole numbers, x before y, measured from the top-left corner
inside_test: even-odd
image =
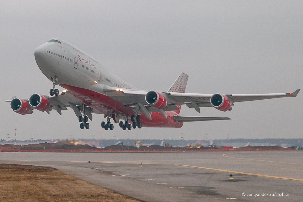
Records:
[[[135,89],[107,71],[97,60],[72,44],[53,38],[35,50],[35,59],[43,74],[57,84],[90,88],[103,84],[115,88]]]

